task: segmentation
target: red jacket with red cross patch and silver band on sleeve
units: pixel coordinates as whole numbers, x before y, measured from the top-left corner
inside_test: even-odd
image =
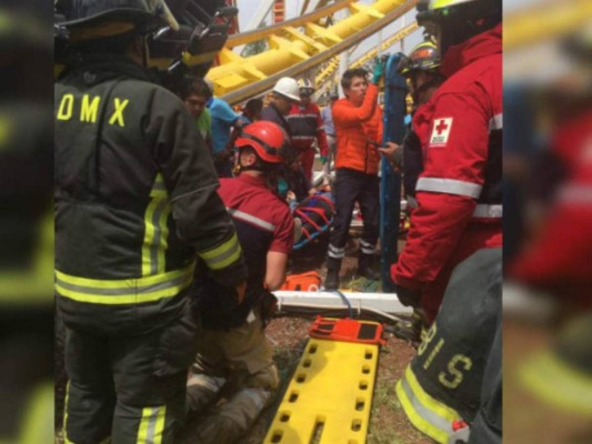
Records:
[[[487,229],[463,246],[465,257],[501,246],[501,24],[449,48],[442,72],[448,79],[413,118],[424,162],[419,207],[391,268],[392,279],[413,290],[435,280],[469,224]],[[493,235],[491,224],[499,227]]]

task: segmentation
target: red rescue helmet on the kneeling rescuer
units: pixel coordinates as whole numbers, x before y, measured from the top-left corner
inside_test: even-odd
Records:
[[[287,142],[284,130],[276,123],[260,120],[243,128],[234,145],[252,147],[259,158],[268,163],[282,163],[282,148]]]

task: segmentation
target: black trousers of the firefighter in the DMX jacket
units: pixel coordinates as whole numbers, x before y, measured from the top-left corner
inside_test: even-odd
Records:
[[[143,335],[68,326],[65,442],[172,443],[185,416],[197,331],[189,308]]]

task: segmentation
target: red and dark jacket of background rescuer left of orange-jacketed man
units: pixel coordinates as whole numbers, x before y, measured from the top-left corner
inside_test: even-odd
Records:
[[[286,120],[290,125],[292,146],[298,151],[310,150],[313,142],[318,141],[321,155],[329,153],[325,124],[321,118],[321,111],[314,103],[306,106],[292,105]]]

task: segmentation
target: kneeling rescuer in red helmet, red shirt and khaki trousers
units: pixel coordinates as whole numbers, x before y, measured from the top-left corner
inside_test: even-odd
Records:
[[[265,310],[275,301],[269,292],[285,280],[294,219],[268,180],[282,163],[287,143],[285,132],[274,122],[247,125],[236,140],[239,176],[220,179],[218,194],[236,226],[249,278],[244,299],[234,304],[234,291],[207,277],[196,279],[194,285],[204,329],[188,381],[188,409],[200,411],[228,381],[239,383],[229,400],[202,422],[202,443],[234,442],[252,426],[279,384],[265,339]]]

